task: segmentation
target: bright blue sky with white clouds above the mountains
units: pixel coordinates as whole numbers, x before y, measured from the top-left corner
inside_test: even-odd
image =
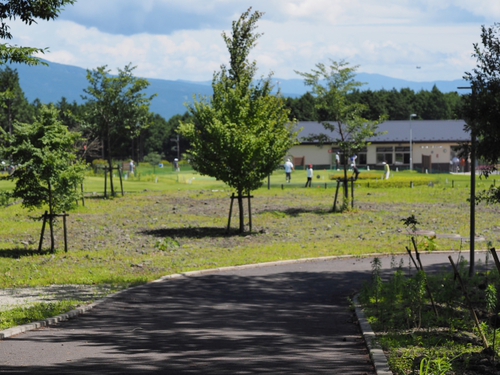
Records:
[[[222,33],[249,7],[264,12],[250,59],[281,79],[331,60],[409,81],[461,79],[481,26],[500,20],[498,0],[78,0],[55,21],[12,21],[10,43],[85,69],[131,63],[139,77],[210,81],[229,64]]]

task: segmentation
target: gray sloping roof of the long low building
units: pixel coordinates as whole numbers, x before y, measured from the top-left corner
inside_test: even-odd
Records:
[[[412,120],[412,142],[466,142],[470,133],[464,129],[464,120]],[[337,132],[326,130],[320,122],[300,121],[297,127],[303,128],[299,134],[302,143],[315,134],[326,134],[332,139],[340,138]],[[384,134],[370,138],[372,143],[393,143],[410,141],[410,121],[385,121],[378,127]]]

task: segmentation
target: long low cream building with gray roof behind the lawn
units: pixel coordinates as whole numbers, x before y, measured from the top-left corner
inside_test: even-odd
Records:
[[[326,130],[319,122],[302,121],[297,127],[302,128],[300,144],[290,150],[289,156],[294,157],[298,164],[335,168],[338,151],[335,142],[321,145],[309,138],[325,134],[335,140],[340,138],[338,133]],[[463,170],[467,161],[462,160],[457,166],[453,160],[457,156],[455,148],[470,141],[470,133],[464,127],[464,120],[385,121],[379,125],[380,134],[372,137],[370,145],[357,155],[356,163],[361,168],[369,169],[381,169],[386,162],[399,170],[409,169],[410,166],[422,172],[448,172],[453,168]],[[340,157],[343,158],[343,155]]]

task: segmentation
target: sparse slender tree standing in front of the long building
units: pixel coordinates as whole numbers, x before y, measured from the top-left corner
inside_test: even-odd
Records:
[[[353,103],[348,100],[348,94],[362,86],[355,80],[357,66],[351,67],[345,61],[331,61],[330,66],[319,63],[312,73],[297,74],[304,77],[305,84],[312,87],[316,97],[316,108],[319,120],[328,133],[313,135],[310,140],[320,144],[329,143],[336,146],[343,154],[344,168],[344,207],[347,207],[347,161],[350,156],[356,155],[368,144],[368,139],[377,135],[378,124],[385,117],[377,121],[369,121],[362,117],[367,110],[366,105]],[[333,135],[332,135],[333,134]]]

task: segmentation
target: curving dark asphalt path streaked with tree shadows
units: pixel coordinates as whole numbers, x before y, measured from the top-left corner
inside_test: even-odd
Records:
[[[450,269],[450,254],[458,259],[421,258],[432,272]],[[479,264],[484,256],[476,254]],[[380,257],[386,275],[400,258],[407,267],[408,256]],[[372,260],[239,267],[132,288],[75,319],[0,341],[0,373],[375,374],[349,308]]]

